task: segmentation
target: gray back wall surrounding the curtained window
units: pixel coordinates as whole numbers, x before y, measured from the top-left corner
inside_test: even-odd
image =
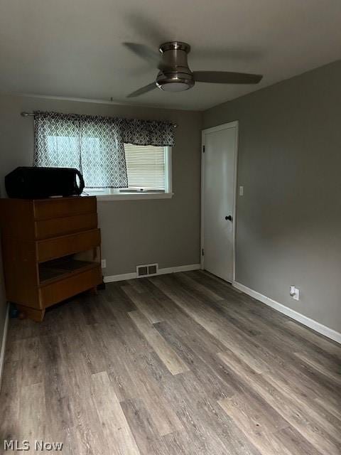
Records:
[[[200,262],[200,112],[0,96],[0,181],[16,166],[31,166],[33,118],[21,111],[55,110],[178,123],[173,147],[172,199],[99,202],[105,274],[136,272],[136,264],[175,267]],[[1,322],[1,321],[0,321]]]

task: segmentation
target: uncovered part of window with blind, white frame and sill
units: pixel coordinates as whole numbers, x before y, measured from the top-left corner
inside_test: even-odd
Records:
[[[98,196],[171,196],[171,147],[124,144],[128,188],[85,188]],[[143,196],[141,198],[144,198]]]

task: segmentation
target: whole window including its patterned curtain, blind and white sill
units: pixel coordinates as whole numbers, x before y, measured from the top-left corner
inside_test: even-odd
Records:
[[[170,198],[173,144],[170,122],[34,112],[33,166],[77,168],[104,200]]]

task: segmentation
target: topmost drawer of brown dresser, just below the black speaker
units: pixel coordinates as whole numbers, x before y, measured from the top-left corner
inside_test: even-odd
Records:
[[[96,213],[97,201],[94,196],[75,196],[60,199],[36,199],[33,201],[34,218],[47,220],[77,213]]]

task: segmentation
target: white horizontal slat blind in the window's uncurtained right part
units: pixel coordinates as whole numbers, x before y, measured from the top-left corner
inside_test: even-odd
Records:
[[[128,186],[165,189],[165,147],[124,144]]]

